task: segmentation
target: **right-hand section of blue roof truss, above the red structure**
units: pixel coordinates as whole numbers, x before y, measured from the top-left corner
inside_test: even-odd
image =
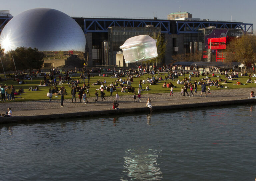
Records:
[[[219,29],[241,29],[245,33],[252,34],[250,23],[218,22],[218,21],[176,21],[176,33],[198,33],[199,29],[214,26]]]

